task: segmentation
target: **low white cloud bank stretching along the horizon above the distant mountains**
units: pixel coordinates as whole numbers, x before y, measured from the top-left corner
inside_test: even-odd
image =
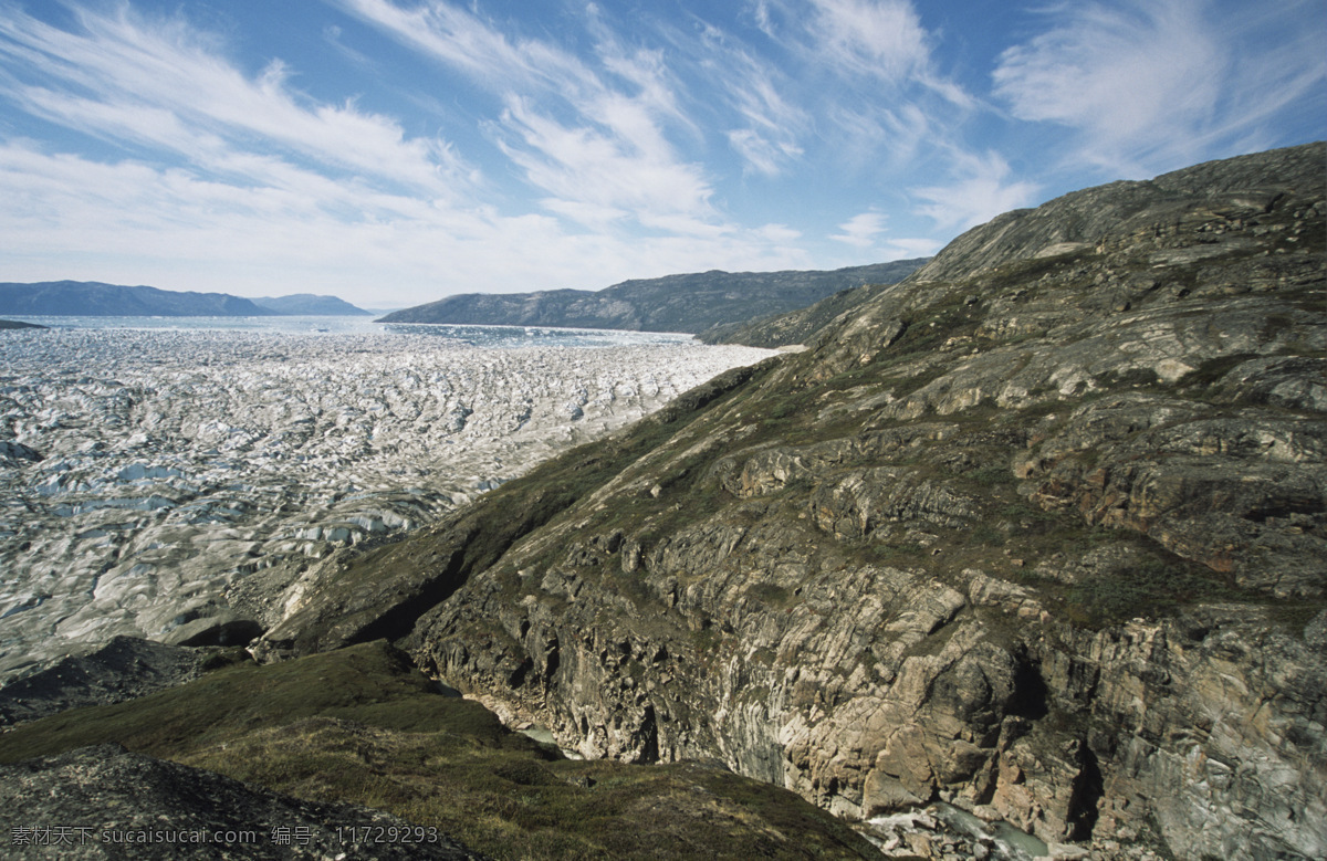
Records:
[[[677,271],[809,264],[787,244],[796,232],[779,226],[569,233],[551,216],[456,210],[308,174],[280,187],[240,187],[17,142],[0,143],[0,264],[13,280],[146,280],[419,304],[451,292],[598,289]]]

